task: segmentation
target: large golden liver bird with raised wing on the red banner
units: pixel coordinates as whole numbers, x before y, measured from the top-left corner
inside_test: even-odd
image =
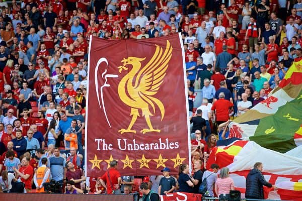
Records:
[[[161,130],[154,129],[150,117],[154,116],[156,110],[160,110],[161,120],[165,116],[165,107],[163,103],[154,97],[167,73],[169,61],[172,57],[172,46],[167,40],[166,49],[156,45],[156,51],[153,57],[145,66],[141,65],[141,61],[145,58],[128,57],[124,58],[118,66],[119,72],[129,70],[129,72],[121,79],[118,84],[118,94],[124,104],[130,107],[130,116],[132,119],[127,129],[120,129],[118,132],[136,133],[132,127],[137,117],[144,117],[148,128],[143,128],[140,132],[145,134],[147,132],[161,132]]]

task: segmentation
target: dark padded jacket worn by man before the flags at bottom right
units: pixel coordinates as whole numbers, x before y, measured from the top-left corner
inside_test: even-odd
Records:
[[[258,169],[252,169],[246,179],[246,193],[248,198],[264,199],[263,185],[272,187],[272,184],[267,182]]]

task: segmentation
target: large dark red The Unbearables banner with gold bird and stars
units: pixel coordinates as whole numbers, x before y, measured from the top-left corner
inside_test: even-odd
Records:
[[[180,35],[148,40],[92,37],[86,115],[87,176],[112,160],[122,175],[177,173],[189,163]]]

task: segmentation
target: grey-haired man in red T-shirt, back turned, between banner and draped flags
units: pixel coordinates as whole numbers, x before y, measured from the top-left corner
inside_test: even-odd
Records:
[[[225,95],[223,92],[219,93],[218,97],[219,99],[212,106],[211,113],[213,116],[215,111],[216,123],[219,126],[229,120],[229,109],[234,107],[234,104],[230,100],[224,99]]]

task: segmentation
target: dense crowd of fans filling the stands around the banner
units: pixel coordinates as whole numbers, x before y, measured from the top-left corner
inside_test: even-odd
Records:
[[[190,121],[195,177],[187,164],[173,179],[165,168],[161,176],[144,177],[140,188],[145,195],[150,189],[159,194],[178,188],[198,193],[202,177],[209,175],[210,196],[228,191],[219,189],[226,182],[216,182],[216,164],[204,168],[216,146],[216,131],[219,140],[227,139],[230,117],[269,99],[292,62],[302,59],[301,0],[0,0],[0,11],[3,191],[12,187],[5,181],[21,179],[27,192],[32,186],[43,192],[50,178],[64,183],[67,193],[104,193],[108,186],[118,191],[106,175],[87,187],[83,155],[77,154],[84,149],[91,35],[109,40],[182,35],[189,110],[194,112]],[[194,108],[197,89],[203,99]],[[60,154],[62,149],[70,154]],[[228,169],[222,170],[220,177],[229,178]],[[133,181],[116,173],[114,185],[121,184],[127,194]],[[234,188],[230,179],[228,184]]]

